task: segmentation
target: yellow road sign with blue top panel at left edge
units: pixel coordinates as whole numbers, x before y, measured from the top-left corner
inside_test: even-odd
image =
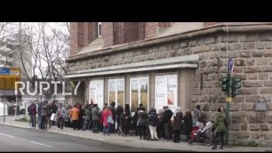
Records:
[[[20,81],[20,68],[0,68],[0,90],[14,89],[16,81]]]

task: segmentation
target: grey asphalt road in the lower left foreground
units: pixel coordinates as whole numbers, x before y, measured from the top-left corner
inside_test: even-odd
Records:
[[[173,151],[173,150],[149,150],[134,149],[103,145],[99,142],[69,137],[66,135],[41,133],[30,129],[0,125],[0,151],[44,151],[44,152],[150,152],[150,151]],[[175,151],[175,150],[174,150]]]

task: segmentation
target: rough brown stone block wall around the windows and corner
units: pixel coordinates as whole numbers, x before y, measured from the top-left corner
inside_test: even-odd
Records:
[[[225,105],[226,94],[221,92],[220,77],[226,76],[227,57],[232,57],[233,76],[242,79],[242,87],[241,94],[230,103],[230,139],[271,139],[272,112],[255,112],[253,104],[267,101],[269,110],[272,109],[272,32],[243,30],[229,30],[228,39],[226,34],[215,30],[165,44],[70,60],[69,72],[198,53],[199,68],[195,71],[191,107],[200,104],[204,116],[211,120],[216,109]]]

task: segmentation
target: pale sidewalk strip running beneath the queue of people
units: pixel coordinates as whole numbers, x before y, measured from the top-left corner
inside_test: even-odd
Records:
[[[1,125],[10,125],[13,127],[26,128],[29,129],[28,123],[17,122],[13,120],[6,120],[5,123],[0,121]],[[29,129],[30,130],[30,129]],[[186,142],[173,143],[172,141],[143,141],[139,140],[136,136],[119,136],[118,134],[111,134],[110,136],[103,136],[102,133],[91,133],[87,131],[74,131],[72,128],[65,128],[64,131],[57,131],[57,126],[52,126],[49,130],[38,130],[44,133],[57,133],[64,134],[68,136],[74,136],[86,139],[88,141],[98,141],[105,145],[115,145],[119,147],[134,147],[140,149],[178,149],[182,151],[202,151],[202,152],[265,152],[272,151],[269,147],[233,147],[224,149],[212,149],[211,147],[205,147],[203,144],[194,144],[193,146],[188,146]]]

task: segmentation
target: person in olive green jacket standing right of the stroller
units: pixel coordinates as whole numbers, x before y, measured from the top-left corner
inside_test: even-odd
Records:
[[[227,131],[227,126],[225,125],[225,119],[227,118],[225,113],[223,113],[221,108],[217,109],[217,114],[214,117],[214,127],[215,127],[215,139],[212,149],[217,149],[218,140],[220,137],[221,146],[220,149],[224,147],[224,136]]]

